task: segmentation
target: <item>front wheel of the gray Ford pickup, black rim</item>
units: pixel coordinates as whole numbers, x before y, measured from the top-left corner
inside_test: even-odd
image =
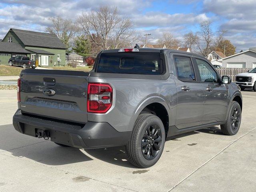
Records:
[[[237,114],[236,114],[237,111]],[[222,133],[225,135],[235,135],[241,124],[241,107],[236,101],[232,101],[228,110],[228,118],[225,124],[220,125]]]

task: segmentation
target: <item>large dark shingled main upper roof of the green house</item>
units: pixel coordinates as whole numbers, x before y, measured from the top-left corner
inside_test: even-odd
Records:
[[[51,33],[42,33],[11,28],[25,46],[66,49],[62,41]]]

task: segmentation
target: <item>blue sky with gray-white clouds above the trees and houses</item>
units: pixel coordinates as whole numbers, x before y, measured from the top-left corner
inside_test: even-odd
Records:
[[[255,0],[1,0],[0,39],[10,28],[44,31],[50,26],[49,16],[75,20],[100,5],[117,6],[121,14],[131,17],[138,32],[151,33],[153,41],[162,32],[181,38],[210,20],[215,33],[228,30],[226,38],[237,51],[256,47]]]

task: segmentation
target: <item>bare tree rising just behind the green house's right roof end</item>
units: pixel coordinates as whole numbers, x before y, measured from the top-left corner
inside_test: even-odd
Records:
[[[46,32],[56,34],[67,47],[70,47],[70,40],[79,30],[77,25],[72,20],[63,19],[60,16],[49,17],[49,20],[52,26],[47,27]]]

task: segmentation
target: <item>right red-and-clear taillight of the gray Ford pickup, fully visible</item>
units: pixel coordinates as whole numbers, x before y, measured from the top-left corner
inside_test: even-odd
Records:
[[[112,106],[113,89],[109,84],[88,83],[87,112],[106,113]]]

